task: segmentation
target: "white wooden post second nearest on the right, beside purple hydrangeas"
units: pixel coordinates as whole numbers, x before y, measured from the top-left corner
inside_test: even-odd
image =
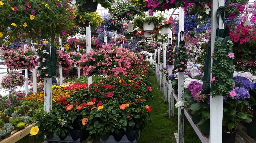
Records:
[[[179,7],[179,33],[178,33],[178,46],[180,41],[180,32],[184,31],[184,11],[183,8]],[[184,85],[184,72],[178,72],[178,101],[182,101]],[[178,108],[178,133],[179,133],[179,143],[184,143],[184,114],[182,114],[183,109]]]

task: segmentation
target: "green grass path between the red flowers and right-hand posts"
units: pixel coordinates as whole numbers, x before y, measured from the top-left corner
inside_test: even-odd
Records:
[[[163,93],[157,82],[156,76],[150,76],[152,95],[148,105],[151,106],[150,121],[145,130],[140,132],[138,143],[176,143],[174,132],[178,132],[178,110],[175,109],[174,117],[168,117],[168,104],[163,101]],[[195,131],[185,118],[185,143],[201,143]]]

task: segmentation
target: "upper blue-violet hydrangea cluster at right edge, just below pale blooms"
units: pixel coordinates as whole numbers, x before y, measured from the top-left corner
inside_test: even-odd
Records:
[[[235,81],[235,84],[240,84],[241,87],[247,90],[255,89],[254,84],[246,77],[237,76],[237,77],[234,77],[233,79]]]

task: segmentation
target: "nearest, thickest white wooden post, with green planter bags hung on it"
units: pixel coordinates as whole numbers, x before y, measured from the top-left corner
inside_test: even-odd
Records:
[[[212,33],[211,33],[211,52],[214,49],[216,28],[217,28],[217,9],[219,6],[224,6],[224,0],[212,0]],[[222,23],[220,18],[219,23]],[[221,24],[220,24],[221,26]],[[223,27],[219,27],[223,29]],[[211,59],[212,67],[212,59]],[[212,74],[211,74],[212,78]],[[210,143],[222,142],[222,117],[223,117],[223,97],[222,96],[210,96]]]

